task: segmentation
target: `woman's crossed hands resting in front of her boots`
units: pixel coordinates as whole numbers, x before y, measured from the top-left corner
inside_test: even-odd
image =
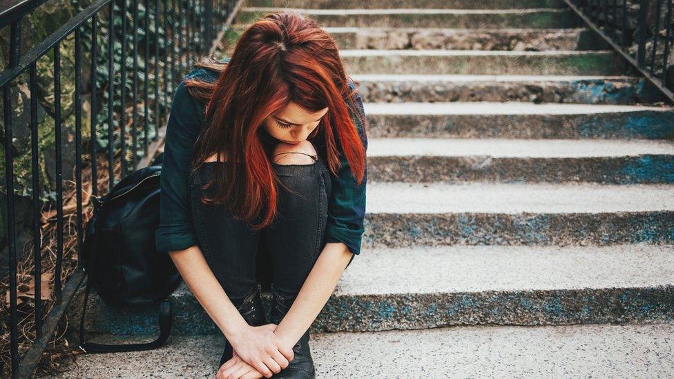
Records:
[[[234,373],[233,378],[239,378],[240,374],[247,371],[244,370],[244,367],[249,366],[262,376],[271,378],[272,373],[278,373],[288,367],[289,361],[295,358],[295,353],[291,347],[287,347],[285,342],[274,334],[273,331],[276,327],[277,325],[273,323],[259,327],[249,326],[233,336],[230,343],[233,350],[236,351],[236,356],[222,365],[227,373]],[[246,365],[240,366],[238,361],[242,361]],[[238,367],[238,369],[229,371],[231,367],[228,364]],[[220,367],[218,373],[222,371],[222,367]],[[227,376],[222,378],[227,378]]]

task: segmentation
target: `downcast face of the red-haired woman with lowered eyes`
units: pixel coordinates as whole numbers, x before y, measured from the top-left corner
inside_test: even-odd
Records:
[[[316,113],[310,113],[291,101],[278,113],[264,119],[264,129],[281,142],[299,144],[316,129],[327,110],[325,107]]]

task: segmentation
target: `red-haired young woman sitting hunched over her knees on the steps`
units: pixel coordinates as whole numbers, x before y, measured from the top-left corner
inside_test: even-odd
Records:
[[[216,378],[314,378],[309,327],[360,253],[363,102],[334,39],[297,13],[267,14],[230,59],[196,66],[168,119],[157,250],[224,334]]]

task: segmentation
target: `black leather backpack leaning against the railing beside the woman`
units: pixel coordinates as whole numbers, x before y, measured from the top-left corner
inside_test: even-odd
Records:
[[[155,162],[127,175],[108,194],[91,197],[95,213],[86,226],[81,255],[87,282],[79,349],[85,353],[155,349],[171,333],[168,296],[182,277],[171,257],[155,248],[162,170],[161,161]],[[91,286],[97,288],[104,302],[115,307],[159,304],[160,336],[153,342],[135,344],[85,342],[84,316]]]

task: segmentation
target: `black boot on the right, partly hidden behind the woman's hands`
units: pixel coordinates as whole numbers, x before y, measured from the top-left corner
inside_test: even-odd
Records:
[[[290,306],[295,301],[297,295],[280,295],[271,286],[271,320],[274,324],[279,324],[282,318],[288,313]],[[293,378],[293,379],[314,379],[316,378],[316,368],[314,359],[311,358],[311,349],[309,348],[309,329],[302,334],[302,337],[293,346],[295,357],[290,364],[279,373],[275,373],[271,378]]]

